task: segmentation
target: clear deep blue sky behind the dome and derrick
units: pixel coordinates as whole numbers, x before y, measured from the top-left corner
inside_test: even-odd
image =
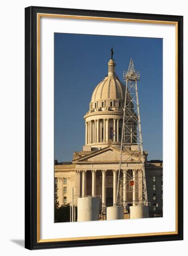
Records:
[[[85,34],[54,34],[55,159],[71,161],[85,144],[85,121],[91,95],[116,62],[122,81],[132,58],[140,71],[138,97],[144,150],[149,160],[163,160],[163,39]]]

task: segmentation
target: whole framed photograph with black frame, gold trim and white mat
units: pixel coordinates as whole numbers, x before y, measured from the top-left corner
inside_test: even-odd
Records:
[[[25,248],[183,239],[183,17],[25,8]]]

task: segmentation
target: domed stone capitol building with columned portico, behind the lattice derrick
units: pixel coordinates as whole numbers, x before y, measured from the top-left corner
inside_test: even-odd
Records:
[[[85,120],[85,145],[74,152],[72,162],[55,160],[55,183],[59,205],[78,197],[100,196],[104,206],[116,202],[125,84],[115,73],[116,63],[108,61],[108,74],[95,87]],[[89,101],[89,100],[88,100]],[[163,213],[163,162],[147,161],[144,167],[150,216]],[[132,159],[133,161],[134,159]],[[127,195],[128,196],[128,195]],[[132,198],[126,198],[132,200]]]

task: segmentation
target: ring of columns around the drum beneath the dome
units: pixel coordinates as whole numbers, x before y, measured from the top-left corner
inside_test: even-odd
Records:
[[[113,120],[113,122],[111,122],[113,128],[113,138],[111,138],[110,134],[110,120]],[[120,125],[120,120],[121,119],[118,118],[104,118],[86,121],[86,145],[104,141],[108,142],[110,138],[112,141],[119,142],[119,136],[121,135],[121,131],[119,134],[119,128],[121,128],[122,125]]]

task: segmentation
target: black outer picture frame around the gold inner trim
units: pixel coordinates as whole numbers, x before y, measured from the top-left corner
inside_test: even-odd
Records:
[[[137,237],[102,238],[41,243],[38,240],[38,145],[37,145],[37,14],[63,14],[132,20],[175,22],[178,28],[177,59],[177,233]],[[183,239],[183,17],[175,15],[123,13],[51,7],[25,8],[25,248],[48,249]]]

